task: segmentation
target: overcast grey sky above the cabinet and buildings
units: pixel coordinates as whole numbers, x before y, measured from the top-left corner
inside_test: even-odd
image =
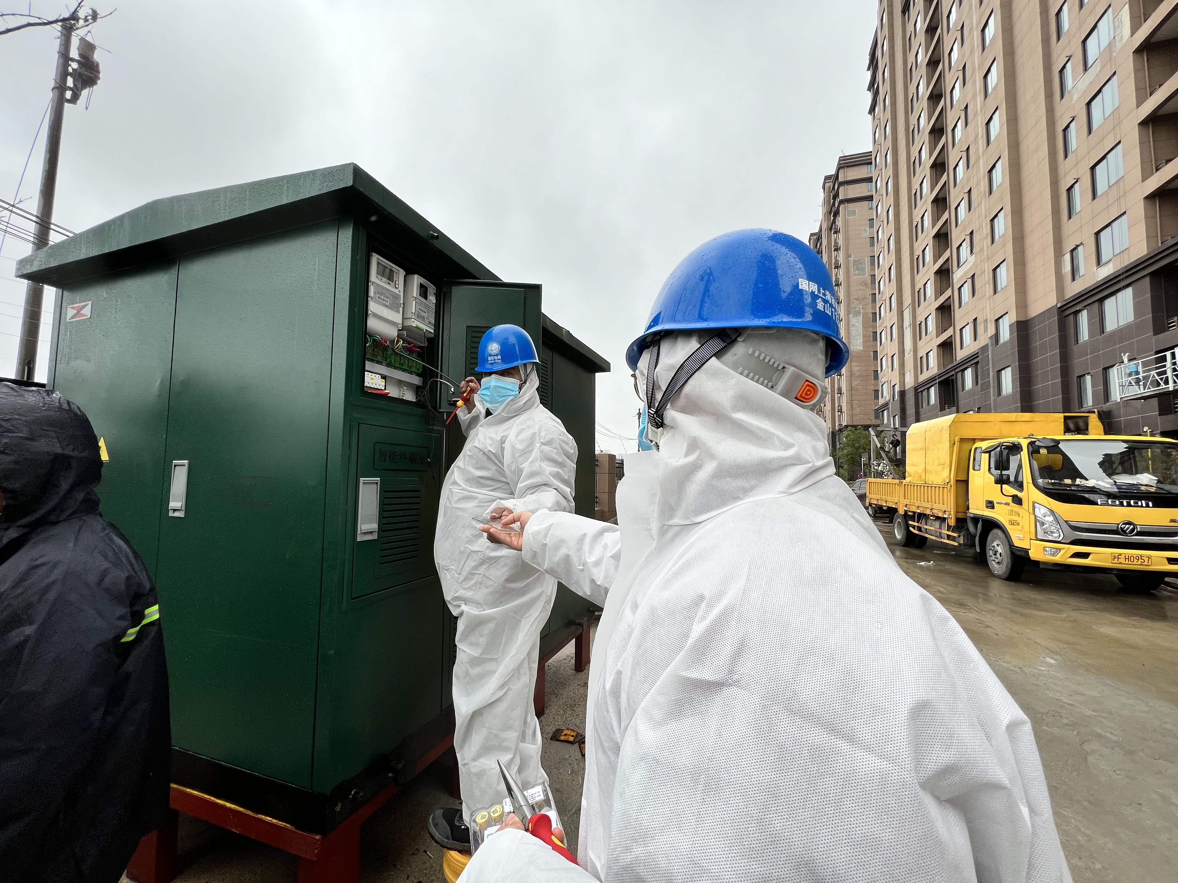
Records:
[[[805,239],[822,175],[869,146],[874,0],[117,5],[94,27],[106,51],[90,108],[66,107],[57,223],[355,161],[503,279],[543,284],[544,312],[613,365],[597,419],[624,437],[638,403],[623,353],[679,260],[740,227]],[[48,28],[0,36],[2,199],[55,45]],[[20,188],[29,210],[42,147],[44,131]],[[0,257],[0,376],[27,252],[9,239]]]

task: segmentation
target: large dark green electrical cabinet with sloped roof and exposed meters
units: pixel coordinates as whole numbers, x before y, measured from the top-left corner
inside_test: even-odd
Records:
[[[434,304],[408,363],[371,360],[391,352],[369,333],[373,254]],[[501,281],[355,165],[155,200],[18,273],[59,288],[49,386],[102,438],[102,512],[158,586],[173,781],[331,830],[452,729],[432,549],[462,434],[434,378],[471,373],[491,325],[542,341],[591,516],[608,364],[538,285]],[[588,612],[562,586],[548,637]]]

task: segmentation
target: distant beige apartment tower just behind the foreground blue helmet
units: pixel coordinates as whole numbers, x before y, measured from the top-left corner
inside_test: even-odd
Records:
[[[872,154],[839,158],[822,179],[822,219],[809,244],[834,280],[842,339],[851,347],[847,366],[827,380],[821,409],[832,447],[848,426],[875,423],[879,360],[875,326],[875,203]]]

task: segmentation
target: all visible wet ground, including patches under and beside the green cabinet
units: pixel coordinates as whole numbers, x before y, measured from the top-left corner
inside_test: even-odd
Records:
[[[1154,883],[1178,868],[1178,591],[1118,591],[1107,576],[1027,570],[1004,583],[971,553],[929,544],[902,549],[878,523],[908,576],[957,617],[1034,724],[1064,850],[1077,883]],[[545,737],[584,730],[588,672],[570,645],[548,665]],[[576,843],[584,759],[544,743],[544,768]],[[437,763],[364,826],[362,879],[442,879],[425,834],[449,796]],[[270,883],[297,877],[274,849],[181,817],[183,883]]]

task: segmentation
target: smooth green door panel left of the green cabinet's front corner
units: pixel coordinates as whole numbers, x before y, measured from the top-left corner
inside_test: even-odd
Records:
[[[180,261],[159,597],[177,748],[310,786],[337,224]]]

